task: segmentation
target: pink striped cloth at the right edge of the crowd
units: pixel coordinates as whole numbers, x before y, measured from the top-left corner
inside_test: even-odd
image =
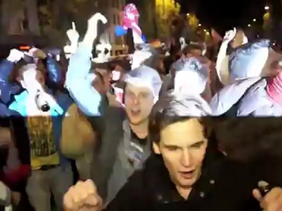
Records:
[[[282,72],[268,81],[266,92],[273,101],[282,104]]]

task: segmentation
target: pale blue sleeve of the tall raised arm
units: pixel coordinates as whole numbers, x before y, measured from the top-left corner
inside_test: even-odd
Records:
[[[78,108],[88,116],[100,116],[101,95],[88,80],[92,47],[81,44],[70,58],[65,87]]]

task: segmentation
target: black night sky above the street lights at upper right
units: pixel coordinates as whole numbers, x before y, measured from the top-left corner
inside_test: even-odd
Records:
[[[273,12],[281,18],[281,0],[179,0],[182,12],[196,12],[207,28],[214,27],[223,34],[233,27],[246,27],[256,18],[263,23],[266,2],[273,4]],[[279,5],[280,4],[280,5]]]

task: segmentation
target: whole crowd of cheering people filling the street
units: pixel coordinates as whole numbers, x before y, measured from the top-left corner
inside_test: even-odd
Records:
[[[13,210],[282,210],[282,55],[226,32],[212,55],[180,37],[134,52],[88,19],[57,61],[11,49],[0,63],[0,204]],[[94,46],[94,48],[93,48]],[[216,59],[214,59],[216,57]],[[276,117],[276,118],[275,118]]]

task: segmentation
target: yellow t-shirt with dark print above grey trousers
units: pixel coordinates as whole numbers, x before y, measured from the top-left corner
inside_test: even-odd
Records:
[[[30,140],[31,168],[38,170],[43,165],[58,165],[59,154],[54,142],[51,117],[28,117],[27,131]]]

